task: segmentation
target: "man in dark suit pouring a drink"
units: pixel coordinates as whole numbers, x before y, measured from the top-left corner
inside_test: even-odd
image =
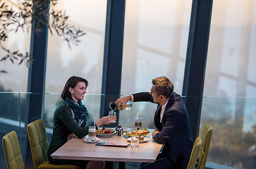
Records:
[[[158,104],[154,113],[157,129],[152,132],[152,138],[164,144],[164,150],[154,163],[142,163],[141,168],[187,168],[193,147],[188,113],[181,96],[173,92],[171,80],[167,77],[154,78],[150,93],[131,94],[117,99],[116,104],[122,104],[123,108],[127,101],[151,101]]]

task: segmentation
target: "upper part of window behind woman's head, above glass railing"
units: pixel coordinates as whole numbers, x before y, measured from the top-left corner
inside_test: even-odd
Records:
[[[72,75],[89,81],[87,93],[100,94],[106,23],[106,0],[58,1],[56,10],[66,11],[69,23],[86,32],[78,46],[49,33],[45,92],[60,93]]]

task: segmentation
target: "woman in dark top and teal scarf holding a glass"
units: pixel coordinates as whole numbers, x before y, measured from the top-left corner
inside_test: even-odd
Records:
[[[103,168],[104,161],[75,161],[75,160],[60,160],[51,158],[59,147],[67,142],[72,137],[85,137],[88,134],[87,123],[87,108],[82,104],[88,82],[82,77],[72,76],[68,79],[61,93],[63,99],[57,106],[54,112],[54,132],[51,137],[51,144],[48,149],[48,161],[52,164],[72,164],[78,165],[80,168]],[[90,125],[99,127],[102,124],[116,123],[111,122],[114,116],[106,116],[100,118]]]

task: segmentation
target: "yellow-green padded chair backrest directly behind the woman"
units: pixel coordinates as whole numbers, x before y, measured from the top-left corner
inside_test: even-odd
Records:
[[[39,165],[48,161],[47,151],[49,149],[47,131],[42,119],[28,124],[28,137],[30,139],[33,162],[35,167],[38,168]]]

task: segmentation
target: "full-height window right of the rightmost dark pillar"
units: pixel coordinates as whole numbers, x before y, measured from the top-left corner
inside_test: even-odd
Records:
[[[201,115],[214,127],[209,162],[255,168],[255,46],[256,1],[215,0]]]

